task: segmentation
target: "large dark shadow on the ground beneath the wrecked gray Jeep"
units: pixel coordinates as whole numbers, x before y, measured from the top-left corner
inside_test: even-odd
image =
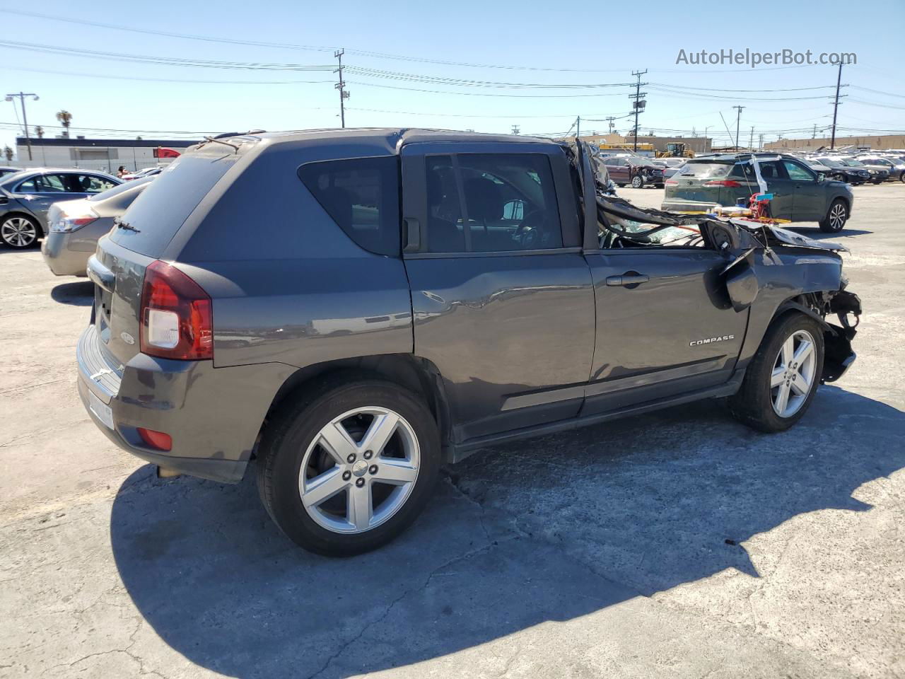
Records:
[[[237,677],[346,677],[593,613],[724,569],[805,512],[862,512],[863,483],[905,467],[905,413],[823,387],[761,435],[705,401],[478,454],[450,467],[404,536],[352,559],[295,548],[235,486],[123,483],[119,574],[161,638]]]

